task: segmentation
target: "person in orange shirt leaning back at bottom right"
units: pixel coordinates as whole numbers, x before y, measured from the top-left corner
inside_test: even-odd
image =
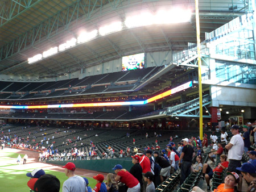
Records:
[[[221,183],[213,192],[234,192],[234,187],[239,181],[239,176],[236,172],[228,172],[226,174],[225,182]],[[204,192],[204,190],[196,186],[193,187],[192,192]]]

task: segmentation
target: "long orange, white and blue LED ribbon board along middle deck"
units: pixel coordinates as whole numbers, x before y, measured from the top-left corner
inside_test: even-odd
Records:
[[[183,85],[177,86],[174,89],[170,89],[164,93],[151,97],[144,101],[126,101],[126,102],[105,102],[105,103],[79,103],[79,104],[59,104],[59,105],[39,105],[39,106],[8,106],[2,105],[0,108],[70,108],[70,107],[103,107],[103,106],[129,106],[129,105],[145,105],[150,102],[154,102],[158,99],[166,97],[168,95],[177,93],[184,89],[192,87],[192,81],[189,81]]]

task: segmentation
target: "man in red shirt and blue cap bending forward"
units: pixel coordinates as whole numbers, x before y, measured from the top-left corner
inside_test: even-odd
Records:
[[[122,165],[117,164],[112,170],[114,170],[115,174],[117,174],[115,181],[125,183],[125,185],[128,187],[127,192],[139,192],[141,190],[141,185],[139,184],[137,178],[135,178],[126,169],[123,169]]]

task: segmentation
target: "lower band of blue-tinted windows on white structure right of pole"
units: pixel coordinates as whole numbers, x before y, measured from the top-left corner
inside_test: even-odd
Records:
[[[219,81],[256,85],[256,65],[215,60],[215,73]]]

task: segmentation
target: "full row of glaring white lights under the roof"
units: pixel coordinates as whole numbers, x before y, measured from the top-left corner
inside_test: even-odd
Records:
[[[173,10],[159,10],[156,14],[150,12],[143,12],[135,16],[130,16],[125,19],[125,22],[114,22],[104,27],[100,27],[99,30],[93,30],[90,32],[84,32],[79,37],[72,38],[66,43],[59,45],[59,47],[53,47],[44,51],[43,54],[38,54],[28,58],[28,64],[45,59],[49,56],[55,55],[59,52],[65,51],[69,48],[75,47],[81,43],[86,43],[97,36],[104,36],[112,34],[113,32],[121,31],[123,28],[133,28],[150,26],[152,24],[171,24],[171,23],[183,23],[188,22],[191,19],[191,10],[173,9]]]

